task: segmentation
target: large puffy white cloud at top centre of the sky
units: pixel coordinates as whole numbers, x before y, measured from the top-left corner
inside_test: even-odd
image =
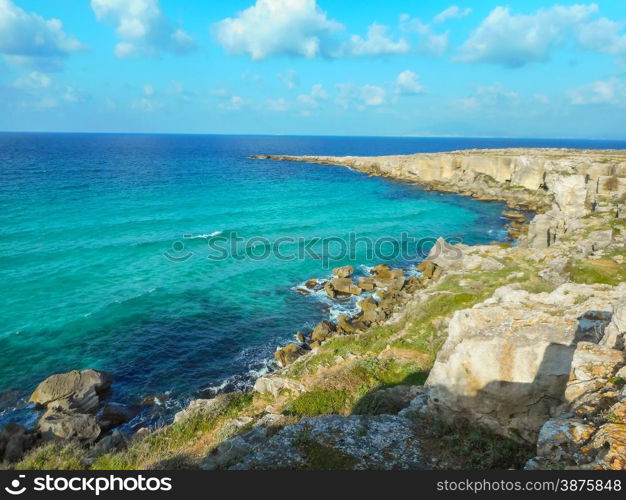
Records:
[[[314,58],[332,52],[332,35],[341,29],[315,0],[256,0],[216,23],[215,34],[229,53],[254,60],[272,55]]]

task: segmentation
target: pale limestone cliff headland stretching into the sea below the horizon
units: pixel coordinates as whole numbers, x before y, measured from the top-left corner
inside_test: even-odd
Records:
[[[394,156],[257,156],[341,165],[439,191],[502,200],[514,208],[585,212],[626,192],[624,151],[493,149]]]

